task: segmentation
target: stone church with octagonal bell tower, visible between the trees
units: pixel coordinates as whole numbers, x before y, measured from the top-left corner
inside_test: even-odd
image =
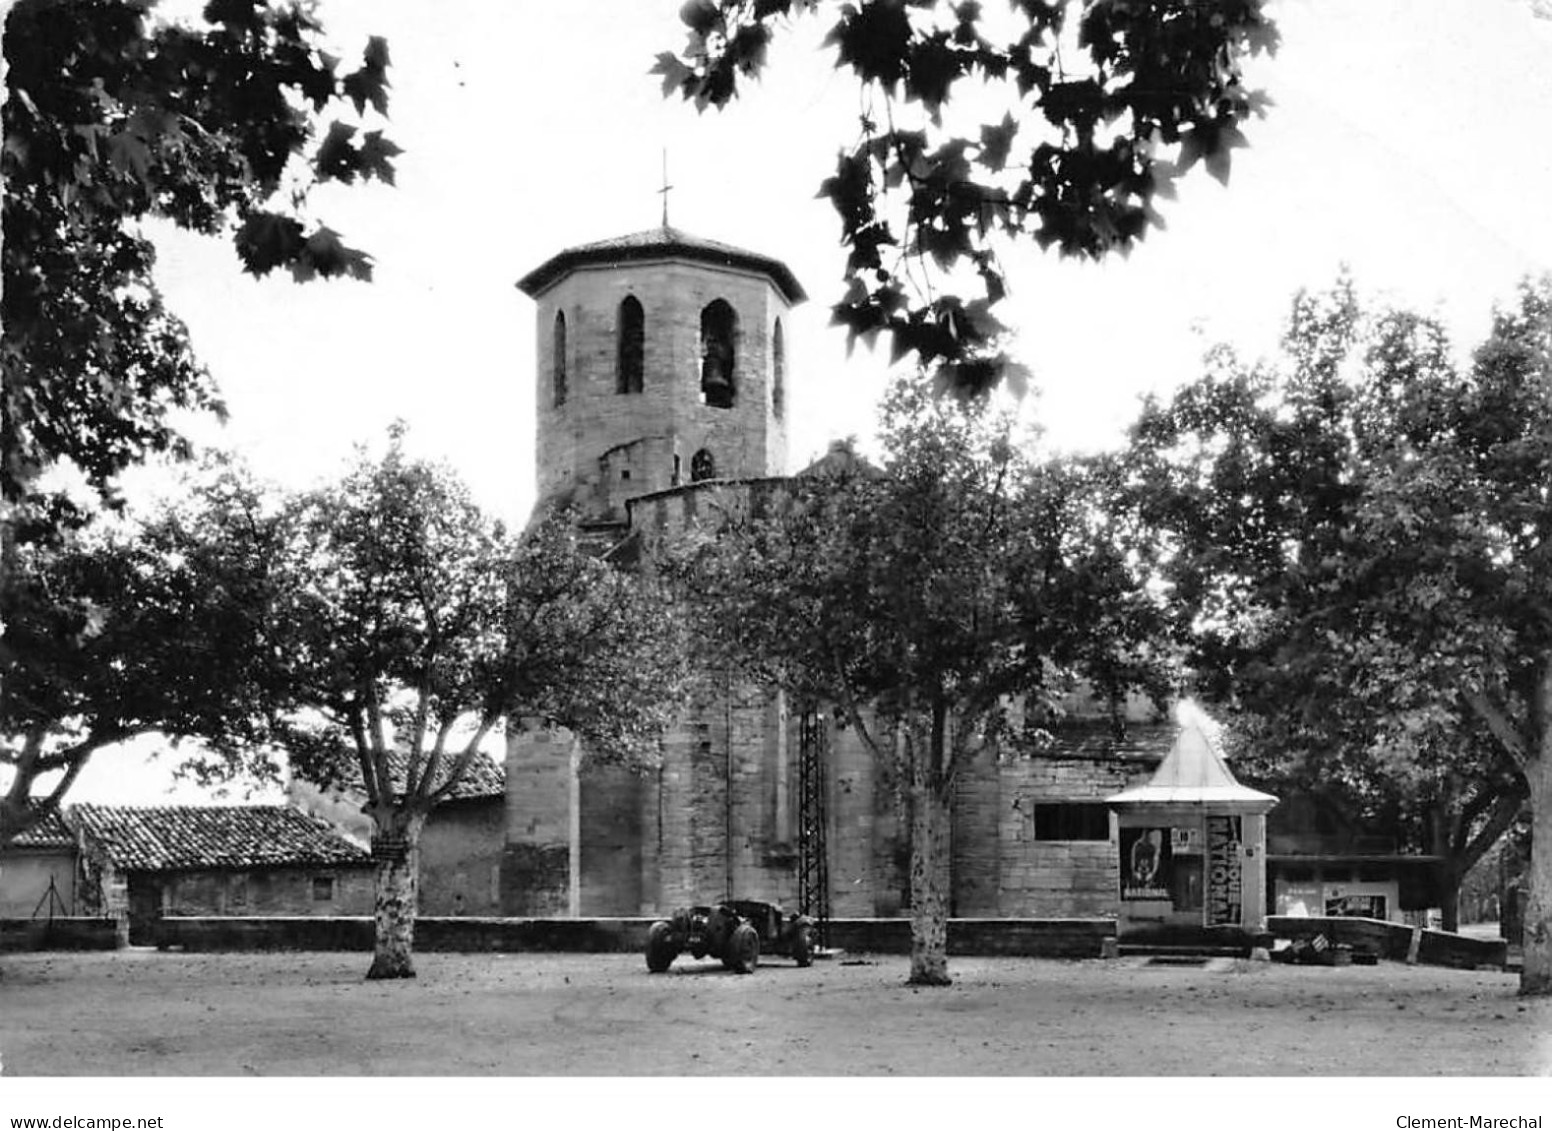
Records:
[[[562,250],[517,285],[537,320],[542,506],[570,504],[591,543],[639,555],[781,489],[788,323],[805,299],[785,264],[664,222]],[[1040,757],[987,751],[961,776],[950,914],[1117,914],[1105,799],[1147,782],[1175,728],[1145,704],[1091,706]],[[908,912],[900,791],[829,715],[729,681],[688,707],[658,766],[582,754],[563,732],[508,738],[501,914],[658,915],[720,898]]]

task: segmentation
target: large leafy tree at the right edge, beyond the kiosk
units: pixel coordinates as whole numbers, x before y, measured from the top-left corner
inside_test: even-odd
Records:
[[[1527,284],[1464,372],[1428,320],[1363,318],[1347,284],[1301,296],[1282,374],[1218,352],[1135,430],[1209,687],[1308,776],[1432,825],[1451,892],[1527,797],[1536,822],[1552,804],[1549,290]],[[1524,993],[1552,991],[1541,877]]]

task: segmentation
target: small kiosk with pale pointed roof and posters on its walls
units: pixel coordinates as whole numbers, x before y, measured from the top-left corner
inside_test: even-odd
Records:
[[[1107,799],[1121,839],[1122,945],[1246,946],[1266,923],[1266,813],[1195,709],[1147,785]]]

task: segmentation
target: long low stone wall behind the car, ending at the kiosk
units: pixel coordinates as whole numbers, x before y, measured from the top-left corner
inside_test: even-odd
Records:
[[[422,917],[414,923],[416,951],[580,951],[633,953],[647,945],[652,918],[475,918]],[[953,918],[950,954],[1093,959],[1111,920],[1090,918]],[[186,951],[369,951],[372,920],[326,917],[168,917],[160,945]],[[906,954],[911,923],[905,918],[830,920],[830,946],[875,954]]]

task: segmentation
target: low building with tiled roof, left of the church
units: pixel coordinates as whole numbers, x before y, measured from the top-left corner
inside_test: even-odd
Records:
[[[124,915],[155,943],[163,915],[366,915],[371,853],[289,805],[71,805],[84,915]]]

